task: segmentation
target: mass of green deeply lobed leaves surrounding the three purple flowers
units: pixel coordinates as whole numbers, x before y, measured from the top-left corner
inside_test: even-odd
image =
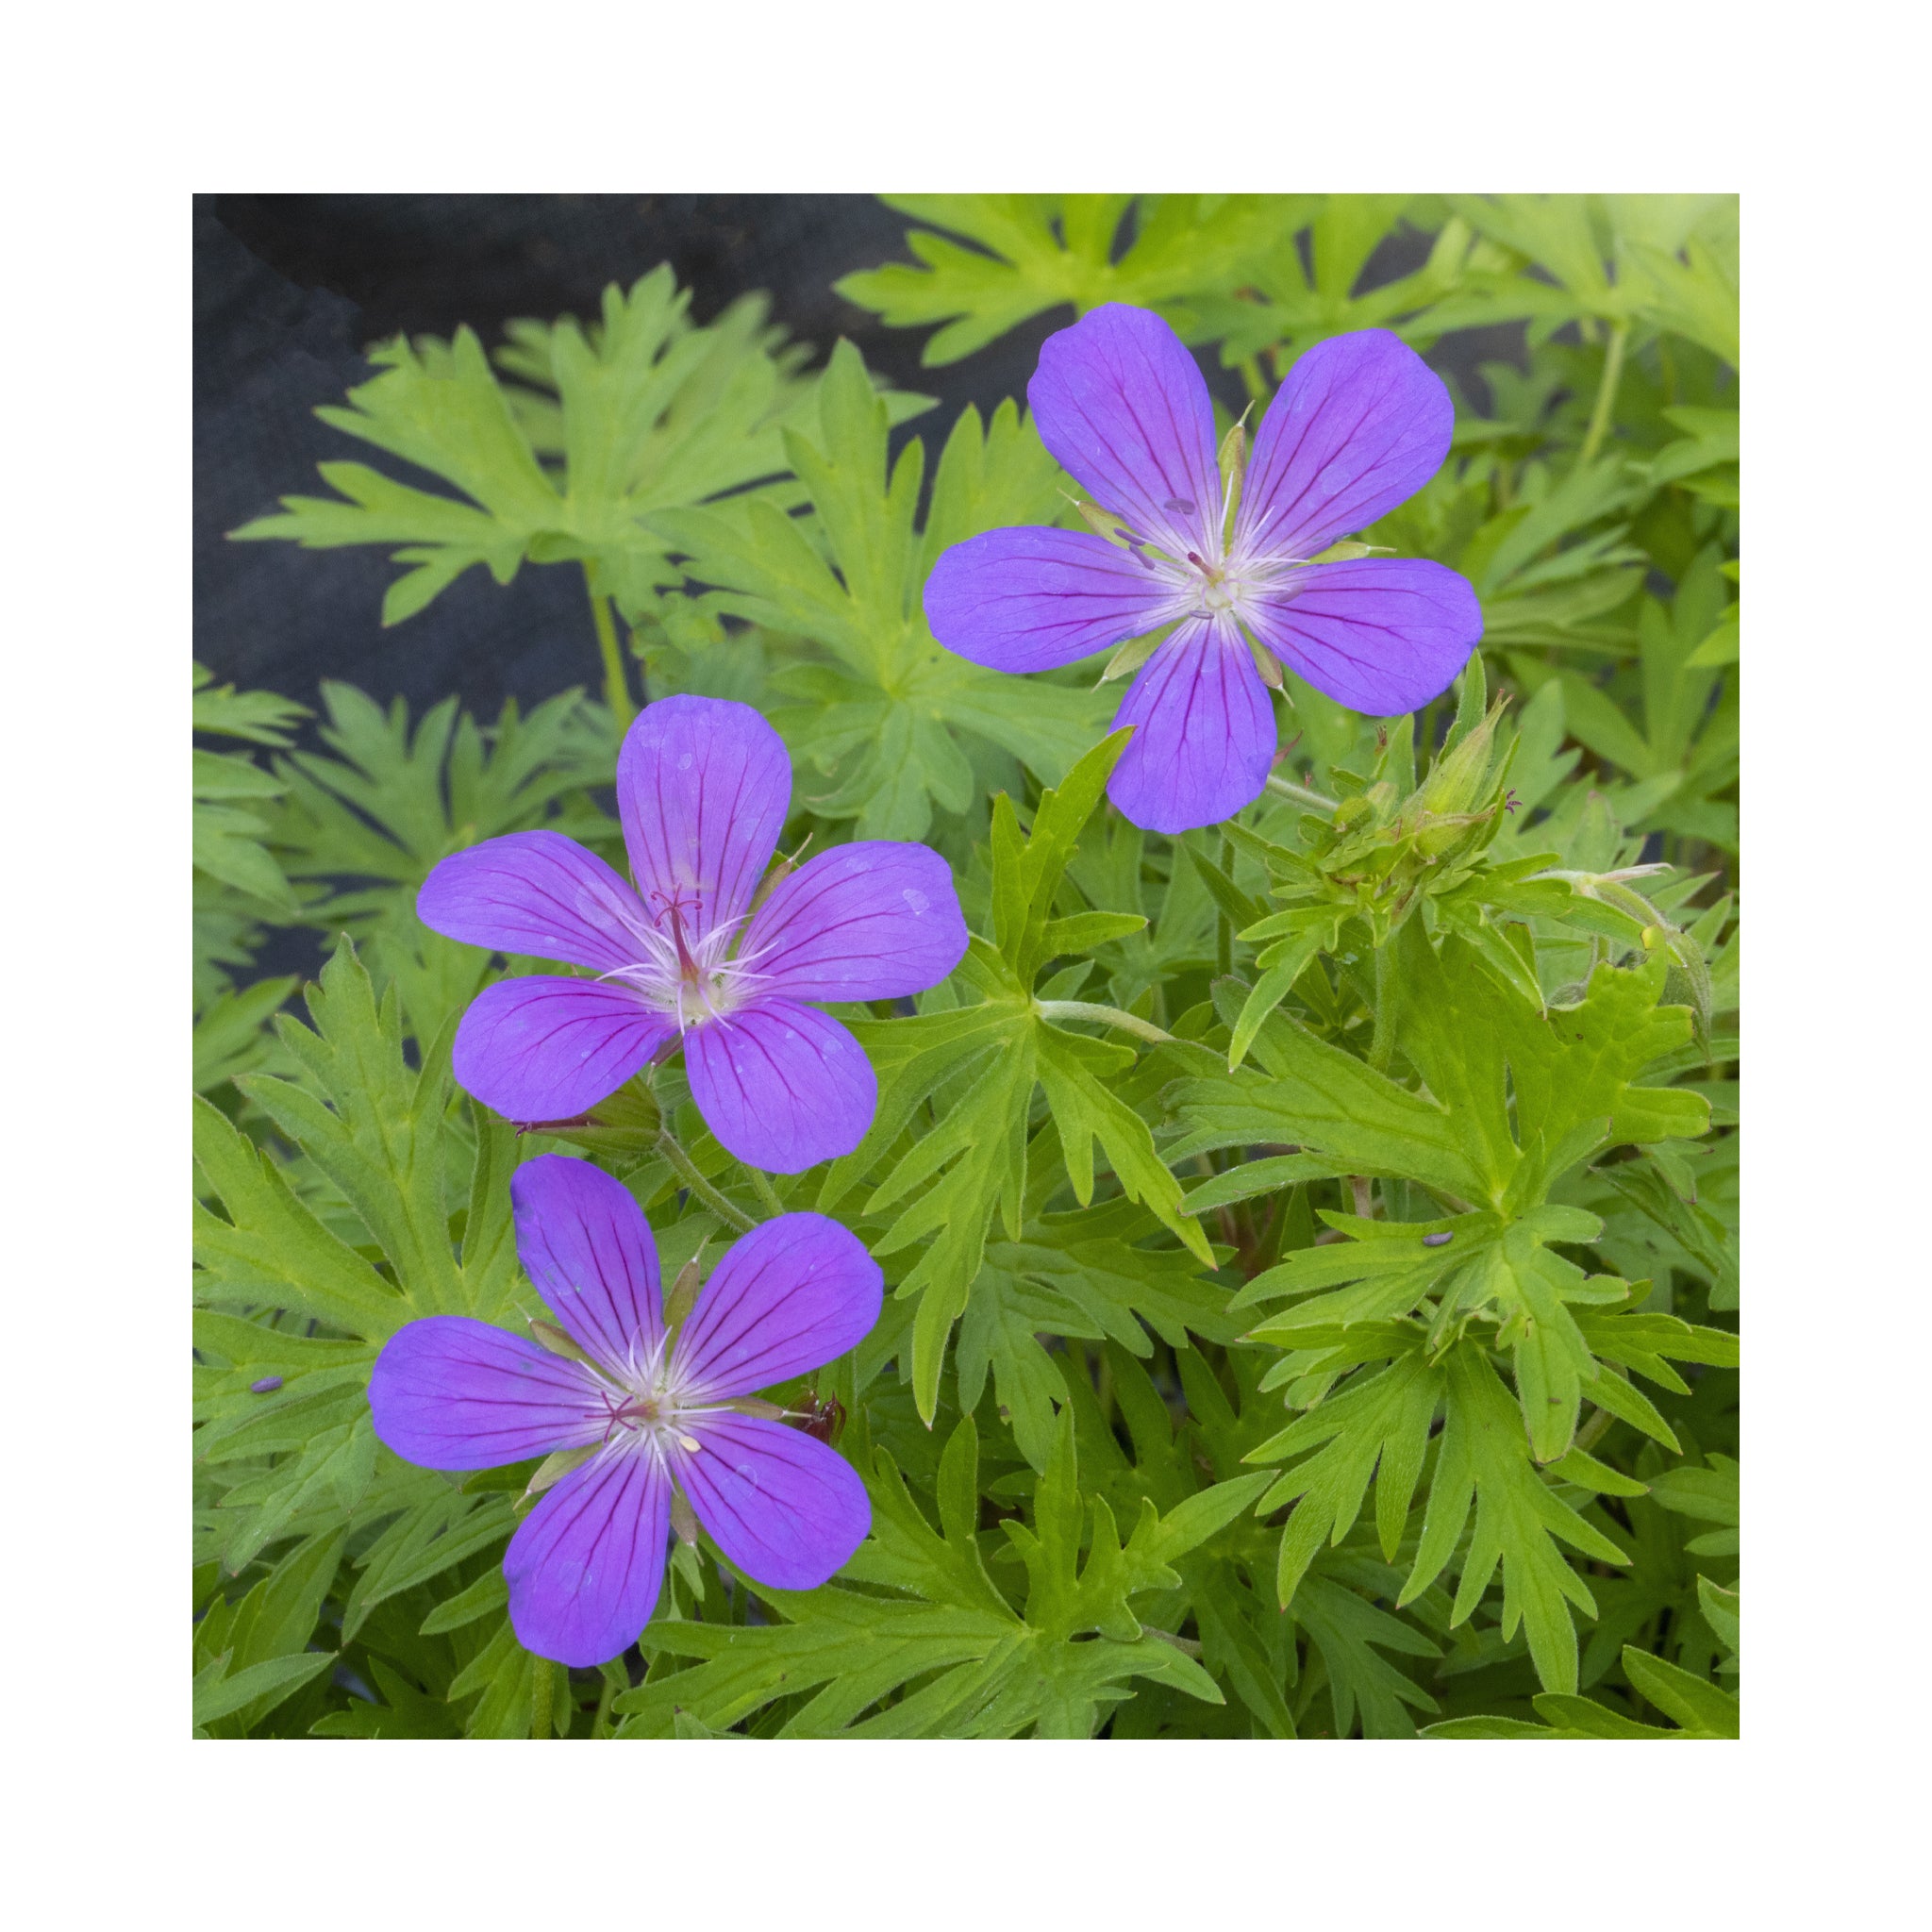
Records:
[[[1291,676],[1264,798],[1148,835],[1103,802],[1107,694],[925,626],[943,549],[1072,516],[1016,404],[951,425],[922,508],[912,400],[846,344],[808,373],[757,305],[694,327],[668,270],[495,369],[468,332],[386,350],[325,413],[468,500],[330,466],[245,535],[400,545],[388,622],[473,562],[578,562],[630,665],[495,724],[325,686],[307,750],[301,705],[197,670],[197,1729],[1737,1735],[1735,203],[895,207],[916,265],[840,288],[943,323],[931,363],[1136,301],[1265,396],[1339,330],[1522,323],[1364,533],[1476,583],[1484,657],[1414,719]],[[804,1175],[730,1159],[674,1070],[524,1134],[450,1080],[526,966],[415,889],[537,825],[622,866],[632,676],[765,711],[786,850],[925,838],[958,877],[954,976],[835,1009],[879,1111]],[[253,966],[272,927],[325,943],[305,1018]],[[365,1395],[408,1320],[539,1312],[539,1151],[618,1175],[668,1271],[811,1208],[889,1281],[810,1391],[858,1555],[798,1594],[680,1548],[587,1673],[506,1619],[531,1464],[413,1468]]]

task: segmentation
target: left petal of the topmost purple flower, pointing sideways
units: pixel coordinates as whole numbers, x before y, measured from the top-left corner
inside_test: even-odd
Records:
[[[925,580],[925,622],[989,670],[1055,670],[1157,630],[1175,585],[1148,558],[1080,529],[989,529],[945,551]]]

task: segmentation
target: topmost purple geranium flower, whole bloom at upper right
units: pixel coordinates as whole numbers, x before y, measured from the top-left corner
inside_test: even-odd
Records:
[[[1308,562],[1449,454],[1449,392],[1385,328],[1331,336],[1294,363],[1233,527],[1208,384],[1150,309],[1109,301],[1047,336],[1026,400],[1121,543],[1045,527],[970,537],[933,568],[925,616],[949,651],[993,670],[1051,670],[1173,624],[1115,717],[1136,730],[1107,796],[1136,825],[1215,825],[1262,794],[1277,734],[1256,667],[1273,667],[1250,639],[1376,717],[1428,703],[1476,647],[1482,609],[1453,570]]]

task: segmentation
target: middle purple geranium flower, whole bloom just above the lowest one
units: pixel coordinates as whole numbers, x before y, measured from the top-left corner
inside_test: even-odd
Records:
[[[450,939],[585,966],[485,987],[456,1030],[458,1082],[512,1121],[568,1121],[684,1041],[692,1099],[740,1161],[796,1175],[850,1153],[879,1086],[811,999],[900,999],[966,952],[952,873],[925,846],[862,838],[781,879],[792,767],[750,707],[647,705],[616,761],[638,889],[560,833],[442,860],[415,910]]]

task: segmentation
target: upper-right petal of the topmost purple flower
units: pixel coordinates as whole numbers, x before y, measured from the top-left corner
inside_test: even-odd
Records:
[[[1235,512],[1236,556],[1314,556],[1406,502],[1449,454],[1455,404],[1387,328],[1306,350],[1262,417]]]

